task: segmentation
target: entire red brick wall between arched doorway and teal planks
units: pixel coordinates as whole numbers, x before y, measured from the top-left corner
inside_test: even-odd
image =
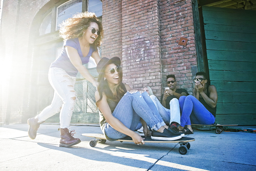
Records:
[[[166,75],[175,74],[177,87],[192,92],[196,51],[190,0],[103,1],[102,23],[102,54],[122,57],[124,82],[135,89],[150,86],[160,97]],[[181,37],[188,38],[186,46],[177,44]]]

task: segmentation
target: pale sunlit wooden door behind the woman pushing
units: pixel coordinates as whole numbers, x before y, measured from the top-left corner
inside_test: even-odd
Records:
[[[48,71],[50,64],[58,57],[63,45],[62,39],[38,44],[35,54],[36,61],[34,62],[35,73],[35,97],[33,98],[34,113],[40,113],[45,107],[51,104],[54,89],[51,87],[48,80]],[[97,77],[97,72],[94,66],[88,68],[89,72]],[[94,93],[96,88],[84,79],[81,74],[77,75],[75,83],[75,91],[77,100],[73,110],[71,123],[99,123],[99,111],[96,110]],[[46,123],[59,123],[59,113],[48,118]]]

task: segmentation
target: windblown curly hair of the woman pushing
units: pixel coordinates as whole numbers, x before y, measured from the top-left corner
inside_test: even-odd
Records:
[[[103,39],[103,28],[102,24],[95,15],[95,13],[84,12],[77,13],[68,18],[60,24],[60,37],[64,40],[81,37],[92,22],[95,22],[99,26],[100,35],[93,42],[92,46],[94,49],[100,49],[100,45]]]

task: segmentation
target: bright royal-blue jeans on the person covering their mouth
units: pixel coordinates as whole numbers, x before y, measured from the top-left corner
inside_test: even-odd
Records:
[[[180,112],[182,112],[180,126],[191,125],[191,122],[202,125],[211,125],[215,122],[214,115],[193,95],[181,96],[179,98],[179,106]]]

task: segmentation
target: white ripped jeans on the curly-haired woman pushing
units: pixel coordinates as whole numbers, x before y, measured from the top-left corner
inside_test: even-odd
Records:
[[[63,69],[53,67],[49,69],[48,78],[54,89],[54,97],[51,105],[47,106],[38,115],[38,122],[60,112],[60,128],[70,129],[71,116],[76,101],[74,86],[76,77],[72,77]]]

